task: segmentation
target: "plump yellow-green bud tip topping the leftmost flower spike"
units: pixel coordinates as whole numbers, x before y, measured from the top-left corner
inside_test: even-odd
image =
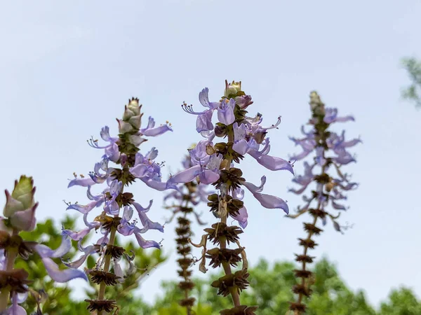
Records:
[[[10,218],[18,211],[25,211],[34,207],[34,181],[32,177],[20,176],[19,181],[15,181],[15,188],[12,194],[5,190],[6,205],[4,206],[4,216]]]

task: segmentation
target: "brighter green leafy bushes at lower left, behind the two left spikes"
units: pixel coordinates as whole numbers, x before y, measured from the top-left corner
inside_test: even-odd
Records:
[[[66,216],[62,225],[68,229],[74,229],[75,219]],[[38,223],[36,229],[32,232],[22,232],[21,236],[27,241],[40,241],[42,244],[50,248],[57,248],[61,243],[61,230],[59,230],[51,219],[46,220],[43,223]],[[120,314],[137,314],[137,315],[149,315],[152,310],[150,307],[142,302],[141,299],[136,298],[133,291],[140,286],[140,281],[143,277],[148,276],[149,272],[154,272],[156,266],[166,260],[163,257],[161,251],[157,249],[143,250],[137,244],[132,241],[119,244],[119,239],[116,240],[116,245],[123,246],[126,248],[130,255],[135,255],[133,263],[138,269],[135,272],[127,276],[122,283],[114,287],[108,287],[106,294],[110,298],[117,300],[121,306]],[[76,241],[73,242],[73,248],[65,256],[66,259],[74,260],[79,257],[81,253],[77,250]],[[60,268],[65,268],[64,265],[60,264],[60,260],[56,260]],[[95,258],[89,257],[87,267],[92,268],[95,265]],[[31,255],[28,260],[18,259],[16,260],[17,268],[24,268],[29,272],[29,279],[33,281],[30,284],[30,288],[34,290],[34,295],[37,296],[39,292],[46,293],[46,299],[41,302],[41,310],[44,315],[73,315],[73,314],[89,314],[86,309],[87,303],[82,300],[74,301],[69,295],[72,292],[72,288],[68,283],[58,285],[52,281],[47,272],[44,269],[44,265],[41,262],[39,255]],[[86,292],[86,298],[96,298],[98,295],[98,286],[91,283],[91,290]],[[31,311],[36,310],[36,299],[32,294],[29,294],[28,299],[22,304],[22,307],[27,309],[28,314]],[[58,311],[60,310],[60,312]]]

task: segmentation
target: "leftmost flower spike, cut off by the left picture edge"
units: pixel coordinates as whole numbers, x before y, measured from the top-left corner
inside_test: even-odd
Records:
[[[72,243],[63,235],[60,246],[53,250],[36,241],[25,241],[20,237],[21,231],[32,231],[36,225],[35,211],[38,202],[34,202],[36,188],[32,177],[20,176],[15,181],[13,192],[6,190],[6,205],[4,217],[0,217],[0,311],[1,314],[25,315],[25,309],[20,303],[27,298],[29,291],[28,272],[24,269],[15,269],[15,259],[20,257],[29,258],[34,252],[40,255],[44,267],[56,282],[67,282],[75,278],[86,279],[86,275],[74,269],[60,270],[53,258],[61,258],[65,255]],[[87,279],[86,279],[87,280]],[[9,297],[12,305],[6,310]]]

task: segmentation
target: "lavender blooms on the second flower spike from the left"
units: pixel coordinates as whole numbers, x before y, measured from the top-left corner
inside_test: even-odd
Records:
[[[129,103],[129,105],[131,105],[132,108],[133,108],[133,102],[134,104],[137,104],[136,100],[134,101],[132,100]],[[126,113],[125,115],[129,116]],[[131,118],[129,118],[128,121],[130,122]],[[129,126],[132,126],[132,127],[138,126],[137,118],[135,121],[135,125],[131,125],[131,123],[128,123],[124,120],[119,120],[120,131],[128,132],[127,130],[129,130],[129,132],[133,133],[135,130]],[[153,118],[149,117],[149,123],[147,127],[144,129],[140,129],[137,132],[137,134],[148,135],[148,136],[154,137],[158,134],[162,134],[163,132],[171,130],[169,129],[169,127],[162,128],[162,127],[154,127],[154,126],[155,126],[155,123],[154,123]],[[119,145],[120,146],[123,145],[122,143],[123,140],[121,138],[119,137],[113,138],[109,136],[109,127],[102,128],[101,137],[104,141],[109,141],[109,145],[98,146],[98,141],[96,140],[91,140],[89,142],[90,145],[93,146],[94,148],[105,149],[105,151],[109,150],[109,148],[112,148],[114,146],[116,146],[116,148],[119,148]],[[126,142],[131,144],[130,137],[128,137]],[[132,176],[132,179],[130,179],[130,181],[128,181],[127,179],[122,179],[124,183],[123,181],[117,179],[119,176],[118,174],[121,174],[120,173],[121,170],[116,171],[115,168],[108,166],[109,160],[111,160],[110,156],[112,155],[114,156],[118,155],[119,157],[123,155],[125,156],[124,159],[127,162],[128,155],[124,152],[118,152],[118,154],[112,153],[111,155],[105,152],[105,155],[102,156],[102,161],[96,163],[94,167],[94,172],[91,172],[89,174],[91,181],[84,178],[83,179],[75,178],[69,183],[69,187],[72,187],[72,186],[87,187],[88,199],[92,200],[90,203],[86,205],[81,205],[79,203],[68,204],[67,209],[74,209],[84,214],[83,221],[86,225],[85,229],[78,232],[71,231],[71,230],[63,231],[65,234],[67,234],[69,237],[71,237],[72,239],[76,241],[79,241],[83,239],[83,237],[86,237],[86,235],[88,235],[89,232],[91,232],[91,230],[101,230],[102,234],[105,234],[107,232],[102,229],[102,227],[107,224],[107,220],[109,220],[109,219],[106,219],[106,215],[119,216],[121,204],[119,204],[118,199],[119,197],[123,195],[123,186],[130,183],[130,181],[134,181],[135,179],[140,179],[141,181],[146,183],[147,186],[149,187],[155,188],[157,190],[166,189],[167,184],[161,182],[161,165],[159,163],[154,162],[154,159],[158,155],[158,151],[156,150],[156,148],[152,148],[145,155],[142,155],[142,153],[140,152],[134,152],[131,155],[134,161],[128,167],[128,174],[129,174],[128,176]],[[114,162],[116,162],[117,165],[121,164],[119,162],[120,158],[117,160],[115,159],[113,160]],[[105,188],[105,190],[102,190],[102,193],[99,195],[92,195],[91,187],[100,183],[107,183],[107,188]],[[168,185],[168,188],[173,188],[173,186]],[[140,205],[138,205],[137,203],[133,201],[131,202],[131,204],[133,204],[133,206],[135,206],[136,208],[140,207]],[[89,222],[87,219],[87,215],[93,209],[101,207],[101,206],[102,206],[102,210],[105,212],[105,216],[102,216],[102,218],[96,218],[95,221],[93,222]],[[156,225],[155,223],[152,223],[152,221],[150,221],[149,218],[147,218],[145,214],[146,211],[142,213],[139,212],[139,214],[141,214],[142,216],[140,218],[140,222],[142,223],[143,227],[137,228],[135,226],[135,221],[133,223],[128,222],[128,220],[130,220],[128,219],[129,217],[128,213],[130,213],[130,210],[126,210],[126,209],[131,209],[131,207],[128,207],[128,206],[125,207],[124,212],[126,215],[123,214],[123,218],[121,218],[121,223],[119,225],[119,228],[117,229],[117,232],[119,232],[121,235],[128,236],[134,233],[137,239],[139,240],[141,238],[138,237],[138,235],[140,233],[146,232],[149,229],[157,229],[163,232],[163,228],[161,225]],[[133,209],[131,210],[131,214],[133,214]],[[158,226],[160,228],[157,228]],[[150,247],[150,244],[153,244],[154,247],[160,248],[159,244],[156,242],[150,243],[147,241],[139,241],[139,244],[140,246],[148,246],[148,247]]]

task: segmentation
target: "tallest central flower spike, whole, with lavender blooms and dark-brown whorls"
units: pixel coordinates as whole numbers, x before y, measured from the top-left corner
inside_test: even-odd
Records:
[[[247,116],[246,109],[253,102],[250,95],[241,90],[241,83],[229,84],[225,81],[225,93],[219,102],[209,102],[208,88],[204,88],[199,93],[199,102],[206,108],[204,111],[196,112],[192,105],[187,104],[182,104],[182,108],[197,116],[196,131],[205,139],[189,151],[192,167],[172,176],[167,185],[189,183],[197,178],[200,183],[212,184],[218,190],[218,193],[208,196],[208,206],[220,221],[205,229],[206,235],[203,235],[200,244],[193,244],[203,247],[199,269],[206,272],[206,258],[209,258],[213,268],[222,265],[225,271],[225,276],[214,281],[212,286],[218,288],[220,295],[231,295],[234,307],[222,310],[221,314],[252,315],[257,307],[241,305],[239,299],[239,293],[249,283],[246,253],[239,243],[239,234],[243,232],[241,228],[246,228],[248,224],[241,186],[248,189],[265,208],[283,209],[288,214],[288,205],[279,197],[262,194],[265,176],[262,176],[260,186],[255,186],[243,178],[243,172],[234,164],[239,164],[248,154],[269,170],[288,170],[293,173],[290,162],[269,155],[271,146],[266,135],[281,123],[281,118],[272,126],[262,127],[260,113],[255,117]],[[214,126],[212,118],[215,111],[218,123]],[[213,144],[215,137],[227,137],[227,142]],[[241,228],[227,225],[228,216],[238,221]],[[208,250],[207,241],[219,247]],[[227,248],[230,242],[237,244],[238,248]],[[231,267],[236,267],[241,261],[242,269],[233,273]]]

